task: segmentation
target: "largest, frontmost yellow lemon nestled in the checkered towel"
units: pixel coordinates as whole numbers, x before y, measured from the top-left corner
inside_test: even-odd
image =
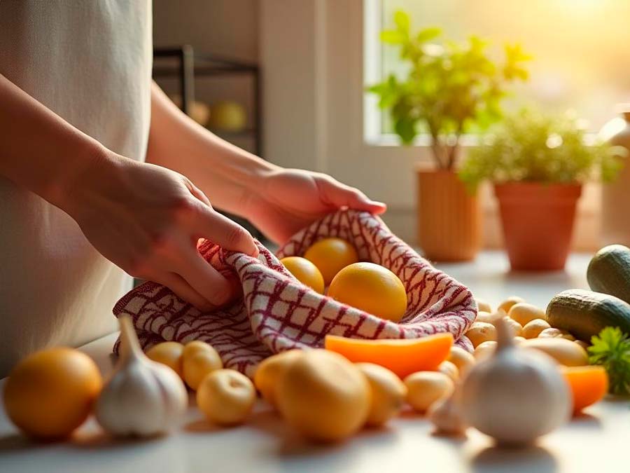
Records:
[[[407,293],[398,276],[374,263],[354,263],[340,270],[328,296],[393,322],[407,310]]]

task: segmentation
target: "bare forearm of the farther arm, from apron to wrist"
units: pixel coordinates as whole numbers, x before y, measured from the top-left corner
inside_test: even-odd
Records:
[[[147,161],[192,179],[213,205],[243,215],[244,200],[271,163],[212,134],[183,114],[153,84]]]

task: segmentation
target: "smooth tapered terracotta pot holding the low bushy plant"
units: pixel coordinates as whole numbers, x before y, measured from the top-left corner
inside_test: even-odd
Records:
[[[496,184],[507,255],[514,270],[559,270],[568,256],[580,184]]]

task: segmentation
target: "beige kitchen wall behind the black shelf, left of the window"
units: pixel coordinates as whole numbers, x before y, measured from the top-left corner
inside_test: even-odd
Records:
[[[265,158],[286,167],[328,172],[384,200],[386,223],[416,239],[415,167],[430,163],[421,147],[366,144],[363,139],[362,0],[154,0],[155,46],[258,62],[262,68]],[[174,92],[175,81],[160,81]],[[235,100],[252,107],[247,78],[199,78],[197,100]],[[245,149],[251,140],[232,138]],[[484,191],[486,245],[503,244],[496,202]],[[575,247],[596,245],[598,193],[580,205]]]

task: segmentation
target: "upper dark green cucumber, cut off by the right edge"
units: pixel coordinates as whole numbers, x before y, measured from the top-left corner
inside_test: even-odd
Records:
[[[587,269],[589,287],[630,303],[630,248],[610,245],[600,249]]]

